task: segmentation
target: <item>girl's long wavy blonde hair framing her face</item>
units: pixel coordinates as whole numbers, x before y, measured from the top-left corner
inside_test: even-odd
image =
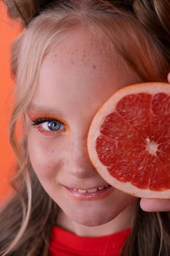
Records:
[[[58,206],[44,191],[32,170],[24,129],[22,143],[18,143],[15,136],[18,118],[23,118],[34,95],[42,60],[58,42],[56,40],[84,26],[98,38],[98,44],[104,42],[106,45],[107,42],[110,49],[115,48],[142,80],[166,81],[170,66],[170,40],[166,23],[168,17],[163,15],[163,10],[169,3],[163,1],[166,4],[159,4],[158,0],[126,1],[126,4],[125,1],[103,0],[4,2],[9,15],[20,18],[26,30],[15,40],[12,48],[16,102],[10,123],[10,141],[18,157],[18,169],[12,178],[16,195],[0,215],[1,230],[6,230],[0,235],[0,255],[12,255],[13,252],[18,256],[47,255],[50,230],[55,225]],[[159,34],[155,29],[158,26],[162,29]],[[39,213],[40,207],[42,213],[47,208],[45,215]],[[36,224],[34,219],[37,219]],[[147,214],[140,208],[136,209],[136,224],[122,255],[155,256],[160,236],[163,238],[160,255],[169,255],[167,220],[170,220],[169,213]],[[161,231],[160,223],[163,226]],[[39,234],[37,238],[36,233]]]

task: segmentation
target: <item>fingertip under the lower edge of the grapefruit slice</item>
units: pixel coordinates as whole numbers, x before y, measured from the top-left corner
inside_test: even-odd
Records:
[[[143,211],[170,211],[170,199],[142,198],[140,207]]]

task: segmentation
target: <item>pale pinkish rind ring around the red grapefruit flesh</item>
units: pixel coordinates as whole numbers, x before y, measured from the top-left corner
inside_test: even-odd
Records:
[[[154,90],[152,86],[154,86]],[[120,89],[115,94],[113,94],[112,97],[110,97],[107,102],[105,102],[104,105],[99,108],[98,112],[93,118],[93,121],[90,124],[90,129],[88,131],[88,154],[90,161],[98,171],[99,175],[104,178],[108,184],[110,184],[112,187],[115,187],[116,189],[136,197],[169,199],[170,189],[159,191],[151,189],[140,189],[131,184],[131,182],[119,181],[117,178],[114,178],[109,174],[107,166],[103,165],[98,159],[98,154],[96,152],[96,140],[101,135],[100,127],[101,124],[103,124],[105,117],[115,110],[117,102],[119,102],[120,99],[127,96],[128,94],[138,93],[148,93],[152,95],[158,93],[170,94],[170,85],[168,83],[134,84],[131,86],[126,86],[125,88]]]

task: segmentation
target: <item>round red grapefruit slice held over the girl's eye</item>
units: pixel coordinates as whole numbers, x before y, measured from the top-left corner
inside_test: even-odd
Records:
[[[113,94],[90,125],[88,154],[113,187],[170,198],[170,85],[140,83]]]

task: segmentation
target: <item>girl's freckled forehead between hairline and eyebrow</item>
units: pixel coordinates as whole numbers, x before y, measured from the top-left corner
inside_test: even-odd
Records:
[[[56,39],[42,62],[32,102],[52,108],[98,108],[133,79],[134,74],[116,51],[111,52],[99,37],[80,29],[59,43]]]

